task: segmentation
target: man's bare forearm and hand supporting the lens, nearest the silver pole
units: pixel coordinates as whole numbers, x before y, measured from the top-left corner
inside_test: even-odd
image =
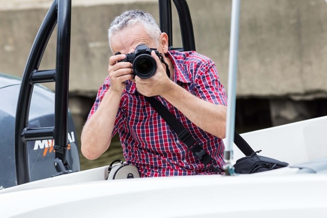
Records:
[[[159,58],[154,54],[152,57],[157,61],[156,75],[149,79],[135,77],[137,90],[146,96],[162,96],[196,126],[219,138],[225,138],[227,107],[202,100],[180,87],[167,77]]]

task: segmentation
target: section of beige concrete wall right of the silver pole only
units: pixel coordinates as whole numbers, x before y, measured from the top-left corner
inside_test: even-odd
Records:
[[[251,3],[242,7],[239,93],[326,96],[326,2]]]

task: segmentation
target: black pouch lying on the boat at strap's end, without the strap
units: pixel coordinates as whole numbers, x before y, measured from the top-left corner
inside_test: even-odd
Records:
[[[271,169],[278,169],[289,165],[287,162],[257,155],[256,153],[259,152],[261,152],[261,150],[252,153],[250,156],[238,159],[234,164],[235,173],[253,174],[270,171]]]

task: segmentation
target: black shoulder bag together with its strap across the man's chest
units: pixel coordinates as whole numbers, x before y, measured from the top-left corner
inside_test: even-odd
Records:
[[[206,151],[202,148],[201,144],[187,131],[183,125],[177,120],[177,118],[170,113],[170,111],[162,105],[158,100],[153,97],[145,97],[152,107],[160,114],[160,116],[165,119],[169,127],[174,130],[178,135],[178,139],[181,140],[188,146],[188,148],[202,161],[204,165],[212,163],[210,167],[216,173],[221,173],[222,169],[214,166],[216,163],[215,159],[212,158]],[[236,146],[245,154],[246,156],[240,158],[233,165],[235,172],[239,174],[252,174],[263,171],[269,171],[271,169],[277,169],[285,167],[288,165],[286,162],[282,162],[273,158],[259,156],[254,152],[249,144],[244,140],[244,138],[234,132],[234,143]]]

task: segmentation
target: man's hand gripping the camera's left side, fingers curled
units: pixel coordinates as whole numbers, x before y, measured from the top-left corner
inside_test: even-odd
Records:
[[[108,74],[111,81],[110,89],[116,92],[123,92],[125,81],[133,79],[132,64],[129,62],[118,62],[126,55],[114,55],[109,58]]]

